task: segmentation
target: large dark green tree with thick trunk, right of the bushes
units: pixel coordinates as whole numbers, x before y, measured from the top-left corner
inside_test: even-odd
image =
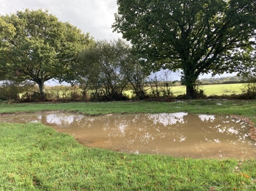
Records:
[[[182,70],[193,98],[198,76],[252,65],[256,1],[117,0],[114,31],[131,41],[152,71]]]

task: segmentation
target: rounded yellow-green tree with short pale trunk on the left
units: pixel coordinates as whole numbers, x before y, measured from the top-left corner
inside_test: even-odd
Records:
[[[2,21],[15,28],[15,35],[0,34],[0,42],[8,43],[0,59],[15,78],[37,83],[42,99],[44,82],[69,73],[69,68],[78,62],[77,55],[91,40],[88,33],[58,21],[47,10],[17,11],[1,15]]]

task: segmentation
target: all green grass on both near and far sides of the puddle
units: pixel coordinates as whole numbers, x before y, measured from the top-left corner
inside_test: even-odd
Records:
[[[1,113],[190,112],[255,121],[256,101],[0,104]],[[256,190],[256,160],[184,159],[86,148],[38,123],[0,123],[0,190]]]

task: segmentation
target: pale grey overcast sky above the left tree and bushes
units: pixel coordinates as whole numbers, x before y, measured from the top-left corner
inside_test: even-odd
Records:
[[[90,32],[95,40],[110,40],[122,37],[113,33],[116,0],[0,0],[0,15],[17,10],[48,10],[60,21],[69,21],[82,32]]]

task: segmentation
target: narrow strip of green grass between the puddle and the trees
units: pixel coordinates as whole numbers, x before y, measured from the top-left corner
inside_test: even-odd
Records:
[[[85,115],[109,113],[161,113],[190,112],[195,114],[239,115],[256,122],[256,101],[250,100],[191,100],[191,101],[113,101],[113,102],[70,102],[39,104],[0,104],[0,114],[13,112],[37,112],[63,110]]]

